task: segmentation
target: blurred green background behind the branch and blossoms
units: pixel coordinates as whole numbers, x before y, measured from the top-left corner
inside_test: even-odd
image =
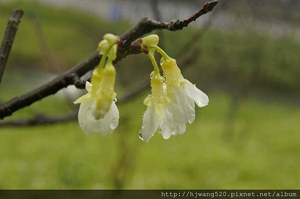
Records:
[[[87,58],[104,33],[144,16],[169,21],[203,0],[0,0],[0,38],[24,10],[0,102],[46,83]],[[85,135],[76,119],[0,126],[0,189],[298,189],[300,182],[298,0],[219,0],[181,31],[156,31],[183,76],[209,96],[183,135],[138,139],[149,89],[117,102],[119,127]],[[157,55],[157,58],[159,56]],[[143,54],[116,64],[117,98],[149,82]],[[4,121],[72,114],[72,86]]]

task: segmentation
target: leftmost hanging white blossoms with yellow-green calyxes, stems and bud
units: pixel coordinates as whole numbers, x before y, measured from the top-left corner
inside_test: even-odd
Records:
[[[87,94],[79,97],[74,104],[80,104],[78,122],[87,134],[111,134],[118,126],[119,113],[115,105],[114,82],[115,68],[112,61],[116,58],[117,37],[105,34],[99,43],[102,55],[99,66],[93,70],[91,83],[86,82]],[[105,59],[107,62],[103,68]]]

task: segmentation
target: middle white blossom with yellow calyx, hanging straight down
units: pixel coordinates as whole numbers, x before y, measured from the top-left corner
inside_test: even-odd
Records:
[[[169,139],[173,128],[173,117],[167,108],[169,99],[163,92],[163,78],[156,74],[151,79],[151,95],[148,95],[144,104],[147,106],[143,114],[139,137],[145,142],[157,131],[164,139]]]

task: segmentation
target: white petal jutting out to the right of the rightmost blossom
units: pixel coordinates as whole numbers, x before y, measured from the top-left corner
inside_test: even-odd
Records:
[[[184,90],[186,91],[188,97],[190,97],[197,104],[198,107],[204,107],[208,104],[208,96],[192,83],[187,82],[184,85]]]

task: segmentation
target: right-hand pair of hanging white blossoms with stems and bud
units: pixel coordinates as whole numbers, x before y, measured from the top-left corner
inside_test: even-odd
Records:
[[[207,95],[183,78],[176,60],[157,46],[158,41],[159,37],[152,34],[133,42],[133,47],[148,55],[155,74],[151,79],[152,94],[144,101],[147,110],[143,115],[142,128],[139,132],[140,138],[146,142],[156,131],[160,132],[164,139],[168,139],[171,135],[183,134],[186,123],[191,124],[195,119],[194,103],[198,107],[208,104]],[[165,81],[160,76],[154,59],[155,51],[162,55],[160,64]]]

